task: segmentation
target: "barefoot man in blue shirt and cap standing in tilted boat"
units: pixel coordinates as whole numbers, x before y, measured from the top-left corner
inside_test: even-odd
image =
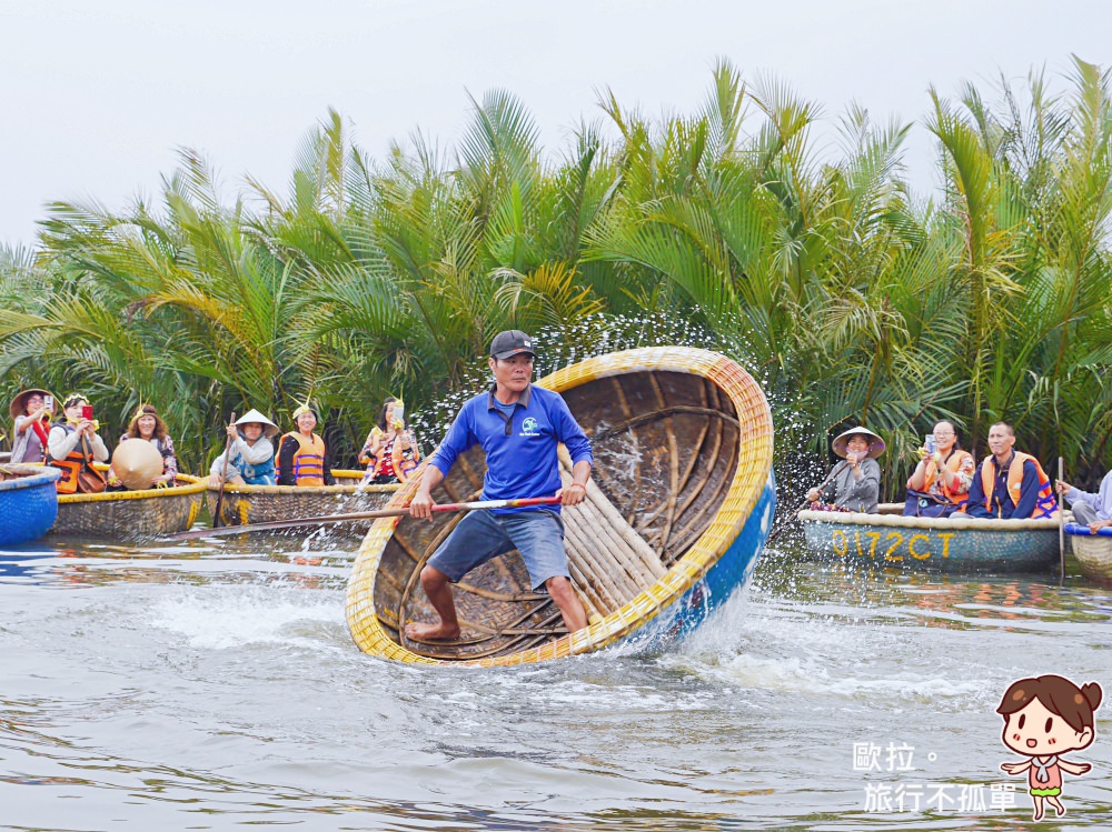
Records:
[[[587,625],[572,587],[564,551],[560,505],[576,505],[587,494],[590,443],[558,393],[534,387],[533,339],[518,330],[499,332],[488,359],[494,384],[460,408],[448,435],[429,458],[417,494],[409,504],[415,518],[431,518],[431,491],[447,475],[459,454],[473,445],[486,453],[484,500],[529,497],[560,498],[552,507],[473,511],[429,558],[420,573],[421,588],[440,617],[439,623],[406,624],[406,635],[418,641],[456,639],[459,620],[449,583],[499,554],[517,549],[534,590],[548,591],[568,632]],[[562,488],[557,445],[572,457],[572,484]]]

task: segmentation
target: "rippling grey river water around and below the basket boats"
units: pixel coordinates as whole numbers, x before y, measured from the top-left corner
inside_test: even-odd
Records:
[[[0,829],[1029,829],[1001,694],[1112,689],[1112,598],[1075,574],[853,571],[793,541],[668,651],[388,663],[345,625],[356,544],[0,552]],[[1044,828],[1112,826],[1110,715]]]

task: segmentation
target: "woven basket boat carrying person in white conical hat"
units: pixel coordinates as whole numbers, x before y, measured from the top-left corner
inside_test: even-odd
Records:
[[[361,485],[363,471],[332,471],[335,485],[226,485],[220,515],[225,525],[272,523],[322,514],[374,511],[386,504],[399,485]],[[217,487],[208,487],[209,512],[216,513]],[[363,534],[370,522],[348,528]]]

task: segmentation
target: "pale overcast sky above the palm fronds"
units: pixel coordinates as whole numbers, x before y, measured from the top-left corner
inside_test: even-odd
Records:
[[[833,121],[922,120],[933,84],[1045,67],[1112,66],[1112,1],[1059,0],[0,0],[0,243],[29,244],[43,206],[153,194],[176,149],[205,153],[232,197],[250,173],[285,192],[295,151],[329,107],[381,158],[421,128],[451,147],[467,91],[516,93],[545,143],[626,108],[689,112],[717,57],[771,72]],[[907,163],[932,187],[916,127]]]

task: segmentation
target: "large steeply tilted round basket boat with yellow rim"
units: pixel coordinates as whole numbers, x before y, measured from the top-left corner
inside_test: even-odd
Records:
[[[564,511],[568,567],[589,625],[568,634],[513,551],[455,584],[459,639],[408,639],[405,623],[435,617],[420,570],[461,515],[389,518],[367,534],[348,581],[348,628],[363,651],[507,665],[624,640],[665,641],[697,626],[748,580],[775,510],[772,414],[748,373],[713,352],[654,348],[589,359],[537,384],[563,394],[592,441],[587,499]],[[471,449],[434,499],[477,499],[485,471],[481,451]],[[408,505],[419,475],[391,508]]]

